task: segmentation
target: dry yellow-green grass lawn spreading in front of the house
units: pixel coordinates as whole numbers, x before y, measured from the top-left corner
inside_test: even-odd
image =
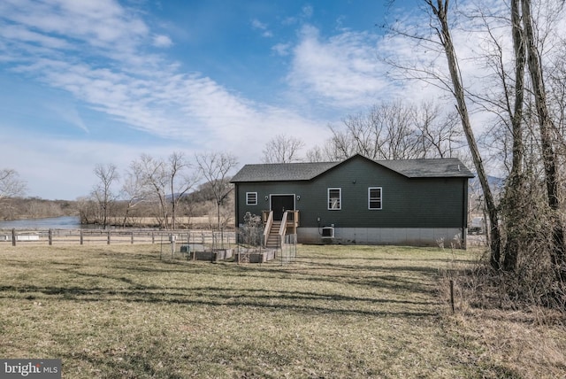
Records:
[[[302,245],[291,265],[237,265],[162,260],[158,245],[1,245],[0,358],[62,359],[66,378],[566,372],[560,325],[460,303],[450,313],[440,273],[475,258]]]

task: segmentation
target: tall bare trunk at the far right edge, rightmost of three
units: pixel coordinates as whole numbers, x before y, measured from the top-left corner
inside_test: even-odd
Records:
[[[542,77],[539,51],[535,44],[532,26],[531,0],[521,0],[523,6],[524,36],[528,50],[528,66],[532,81],[535,104],[539,114],[540,145],[547,183],[547,201],[551,212],[553,248],[552,262],[558,269],[559,279],[566,281],[566,261],[564,260],[564,228],[560,218],[560,182],[558,177],[558,157],[553,146],[553,120],[547,107],[547,96]]]

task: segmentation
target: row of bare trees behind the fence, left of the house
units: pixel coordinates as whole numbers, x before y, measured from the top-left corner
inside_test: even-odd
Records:
[[[121,217],[126,226],[133,213],[141,210],[136,214],[154,217],[160,228],[175,229],[180,214],[195,213],[196,203],[213,202],[217,228],[224,228],[229,217],[221,217],[222,208],[232,193],[229,174],[237,163],[225,152],[188,159],[185,153],[173,151],[166,159],[142,154],[123,174],[114,164],[97,164],[93,190],[79,199],[80,220],[106,228]]]

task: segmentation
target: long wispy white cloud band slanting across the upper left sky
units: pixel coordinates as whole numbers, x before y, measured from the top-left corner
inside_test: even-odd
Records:
[[[167,47],[172,41],[152,35],[142,19],[109,0],[86,2],[84,7],[73,1],[40,6],[11,2],[4,3],[0,13],[0,22],[16,25],[23,36],[10,38],[3,51],[11,55],[12,71],[64,89],[130,128],[190,141],[198,148],[231,142],[238,149],[258,128],[265,130],[267,122],[275,128],[289,119],[286,111],[256,104],[201,73],[182,73],[174,62],[145,52],[148,46]],[[267,32],[258,20],[253,24]],[[81,44],[94,48],[66,53]],[[241,146],[235,140],[241,140]]]

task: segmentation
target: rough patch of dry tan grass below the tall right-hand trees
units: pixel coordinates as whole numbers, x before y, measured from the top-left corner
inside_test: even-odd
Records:
[[[566,314],[513,302],[504,290],[494,293],[482,267],[450,262],[440,280],[442,298],[449,297],[449,281],[455,283],[456,312],[447,315],[447,331],[465,347],[459,360],[494,364],[488,377],[566,378]],[[469,350],[478,354],[466,355]]]

